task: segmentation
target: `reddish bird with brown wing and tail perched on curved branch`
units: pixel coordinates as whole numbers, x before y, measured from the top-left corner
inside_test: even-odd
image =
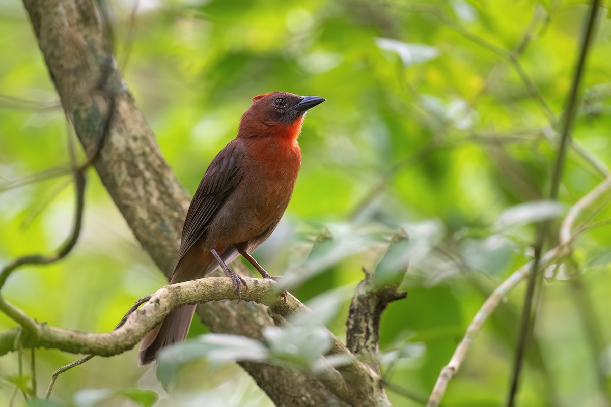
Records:
[[[269,275],[251,253],[276,229],[287,209],[301,168],[298,137],[305,113],[320,96],[269,92],[252,98],[238,134],[210,162],[186,214],[170,284],[202,278],[220,267],[240,300],[246,281],[227,264],[242,255],[263,278]],[[196,305],[171,311],[140,347],[138,365],[185,340]]]

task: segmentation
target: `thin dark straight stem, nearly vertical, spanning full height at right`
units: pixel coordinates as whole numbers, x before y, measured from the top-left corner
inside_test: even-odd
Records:
[[[569,92],[566,102],[566,110],[563,116],[565,121],[562,126],[562,133],[560,135],[560,146],[558,147],[558,153],[554,165],[554,172],[552,173],[552,184],[549,192],[549,199],[552,201],[558,200],[558,190],[560,189],[560,180],[562,179],[562,172],[565,164],[566,148],[569,143],[569,135],[571,134],[571,129],[573,128],[573,120],[577,113],[577,107],[579,106],[578,96],[580,90],[580,83],[584,74],[585,59],[588,55],[591,38],[593,37],[594,33],[596,15],[598,15],[598,5],[599,0],[592,0],[590,4],[590,15],[588,16],[588,20],[585,22],[585,32],[580,46],[580,53],[577,60],[577,68],[573,77],[571,91]],[[535,293],[536,279],[539,271],[541,254],[543,252],[543,244],[548,228],[549,221],[544,221],[540,223],[538,227],[538,234],[535,243],[535,259],[533,260],[533,268],[529,275],[529,282],[524,299],[524,312],[522,314],[522,323],[518,336],[518,345],[516,347],[516,359],[514,362],[513,375],[511,377],[510,392],[507,398],[508,407],[514,405],[515,397],[518,392],[519,378],[522,372],[522,361],[524,359],[524,351],[530,335],[529,328],[531,325],[531,320],[535,317],[535,312],[532,311],[533,294]]]

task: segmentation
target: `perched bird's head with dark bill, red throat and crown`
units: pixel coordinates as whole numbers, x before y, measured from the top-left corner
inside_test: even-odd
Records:
[[[269,92],[252,98],[242,115],[238,137],[281,137],[296,140],[305,112],[325,101],[320,96],[299,96],[288,92]]]

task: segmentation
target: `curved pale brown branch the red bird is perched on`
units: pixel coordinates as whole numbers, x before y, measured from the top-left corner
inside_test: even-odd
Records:
[[[307,308],[292,295],[287,301],[281,300],[276,282],[271,279],[246,278],[248,290],[244,290],[242,300],[266,304],[271,310],[287,316],[295,312],[308,312]],[[81,331],[65,330],[54,326],[43,325],[29,320],[29,331],[23,331],[23,340],[19,344],[25,347],[55,348],[70,353],[88,353],[89,355],[114,356],[130,350],[164,317],[180,306],[206,303],[209,301],[236,300],[233,283],[225,277],[207,277],[186,283],[172,284],[159,289],[150,297],[148,303],[128,316],[123,325],[109,333],[90,334]],[[2,303],[0,303],[2,305]],[[134,307],[133,307],[134,308]],[[4,309],[0,306],[0,310]],[[130,309],[130,311],[132,311]],[[122,320],[123,322],[123,320]],[[33,331],[32,331],[33,330]],[[0,333],[0,355],[16,350],[15,339],[22,330],[13,329]],[[332,336],[331,333],[329,335]],[[373,375],[363,364],[351,357],[351,353],[337,339],[333,339],[331,355],[344,355],[349,362],[337,370],[329,369],[321,376],[324,385],[336,395],[353,406],[389,406],[387,400],[379,396],[379,391],[372,391],[379,386],[379,378]],[[82,360],[69,367],[77,366]],[[67,370],[67,369],[65,369]],[[62,370],[63,372],[64,370]],[[61,373],[61,372],[59,372]]]

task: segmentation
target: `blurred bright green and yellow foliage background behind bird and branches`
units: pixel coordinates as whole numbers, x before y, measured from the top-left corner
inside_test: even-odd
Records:
[[[603,3],[573,134],[604,165],[611,164],[611,20],[610,3]],[[320,320],[343,337],[361,266],[375,267],[390,236],[400,228],[409,232],[411,265],[402,286],[409,295],[391,304],[381,326],[382,371],[403,389],[389,389],[393,405],[418,405],[406,390],[428,397],[485,298],[532,258],[532,222],[564,214],[602,180],[571,149],[560,190],[565,206],[536,204],[549,189],[553,124],[571,84],[585,1],[431,1],[425,9],[415,2],[353,0],[109,5],[126,82],[161,151],[191,191],[235,136],[252,96],[287,90],[327,99],[305,120],[293,200],[256,257],[273,274],[304,270],[296,265],[328,229],[333,243],[324,254],[327,261],[307,268],[291,292],[326,311]],[[38,171],[69,165],[67,126],[18,2],[0,1],[0,52],[0,263],[5,264],[21,254],[53,251],[70,230],[74,198],[67,171],[14,185]],[[59,264],[15,273],[4,295],[39,321],[101,333],[166,280],[93,171],[88,181],[76,250]],[[603,206],[596,219],[609,217]],[[557,225],[552,232],[554,243]],[[580,237],[573,256],[546,273],[520,405],[601,405],[595,364],[603,365],[607,387],[611,375],[608,234],[608,228],[599,228]],[[569,267],[579,271],[606,339],[602,360],[591,356],[567,281]],[[444,405],[503,403],[523,290],[511,292],[486,323]],[[13,325],[0,315],[0,328]],[[210,336],[197,339],[206,332],[194,322],[190,337],[214,342]],[[302,332],[270,333],[263,353],[273,348],[274,335],[290,342]],[[324,338],[312,340],[319,348],[310,356],[287,356],[290,349],[280,348],[265,357],[311,369],[316,351],[324,349]],[[214,346],[208,343],[207,349]],[[156,399],[147,392],[152,390],[160,406],[202,400],[271,405],[246,373],[227,362],[248,356],[249,348],[238,355],[182,349],[185,361],[198,357],[160,369],[166,389],[155,369],[136,367],[133,350],[94,358],[60,376],[52,399],[61,406],[150,405]],[[26,364],[29,358],[28,352]],[[37,350],[39,396],[51,373],[74,359]],[[9,403],[16,372],[15,354],[0,357],[0,405]],[[23,403],[19,395],[15,405]]]

